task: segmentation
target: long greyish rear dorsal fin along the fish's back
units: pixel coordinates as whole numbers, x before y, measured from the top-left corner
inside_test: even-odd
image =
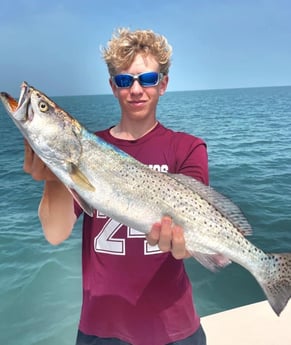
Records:
[[[229,198],[220,194],[210,186],[206,186],[202,182],[193,177],[182,174],[169,174],[174,179],[184,184],[195,193],[199,194],[203,199],[209,202],[217,209],[225,218],[227,218],[244,236],[252,234],[252,227],[246,217]]]

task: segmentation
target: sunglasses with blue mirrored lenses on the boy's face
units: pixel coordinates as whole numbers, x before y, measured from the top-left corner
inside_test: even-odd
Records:
[[[111,78],[118,88],[130,88],[135,80],[137,80],[142,87],[156,86],[158,85],[162,77],[162,73],[144,72],[136,75],[117,74]]]

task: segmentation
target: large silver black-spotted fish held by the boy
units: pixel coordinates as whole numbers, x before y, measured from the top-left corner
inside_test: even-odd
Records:
[[[235,262],[252,274],[279,316],[291,297],[291,253],[265,253],[247,236],[240,208],[211,186],[162,173],[86,129],[43,92],[21,85],[0,99],[34,152],[90,216],[98,210],[144,234],[167,215],[184,229],[186,249],[217,271]]]

